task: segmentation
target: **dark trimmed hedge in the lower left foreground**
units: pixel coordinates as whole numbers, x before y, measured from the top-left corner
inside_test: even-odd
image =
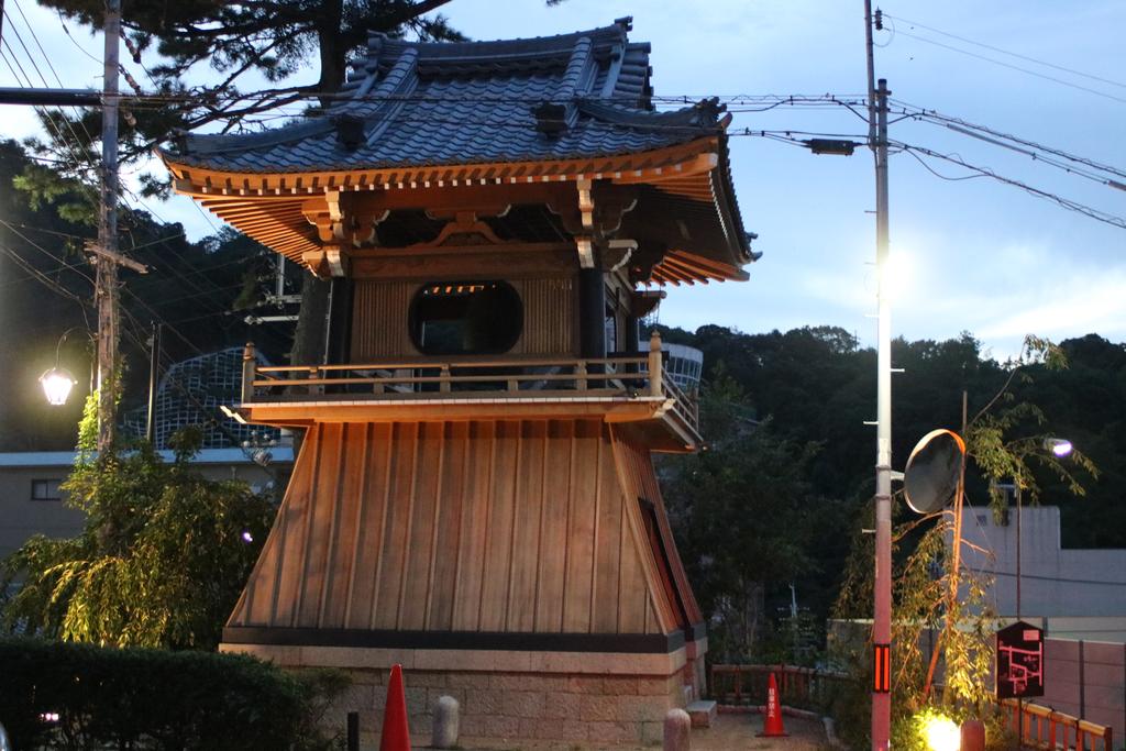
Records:
[[[347,683],[245,655],[0,638],[0,723],[17,751],[336,748],[318,723]]]

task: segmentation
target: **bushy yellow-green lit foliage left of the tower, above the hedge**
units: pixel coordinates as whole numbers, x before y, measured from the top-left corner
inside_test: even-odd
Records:
[[[198,437],[179,440],[170,464],[146,444],[80,452],[63,490],[86,528],[74,539],[36,535],[0,564],[5,584],[20,582],[0,623],[117,646],[217,645],[274,509],[244,483],[204,479],[189,464]]]

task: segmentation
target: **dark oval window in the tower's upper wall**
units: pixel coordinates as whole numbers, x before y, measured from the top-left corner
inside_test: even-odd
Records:
[[[507,281],[430,281],[414,293],[411,341],[425,355],[499,355],[524,329],[524,304]]]

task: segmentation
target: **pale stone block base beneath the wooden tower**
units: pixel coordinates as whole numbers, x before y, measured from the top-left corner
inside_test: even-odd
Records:
[[[696,674],[685,647],[669,654],[249,644],[224,644],[221,650],[283,667],[347,672],[352,686],[324,723],[342,730],[347,713],[358,712],[365,749],[378,746],[387,677],[395,663],[403,665],[412,735],[423,745],[441,696],[461,705],[461,735],[467,741],[659,743],[665,713],[685,707],[685,687]]]

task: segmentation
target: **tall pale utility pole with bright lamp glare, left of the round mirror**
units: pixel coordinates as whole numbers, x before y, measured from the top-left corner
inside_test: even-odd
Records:
[[[868,62],[868,145],[876,161],[876,561],[872,622],[876,669],[872,695],[872,749],[887,751],[892,694],[892,309],[887,275],[887,81],[875,79],[872,0],[865,0]],[[877,14],[879,11],[876,11]]]

